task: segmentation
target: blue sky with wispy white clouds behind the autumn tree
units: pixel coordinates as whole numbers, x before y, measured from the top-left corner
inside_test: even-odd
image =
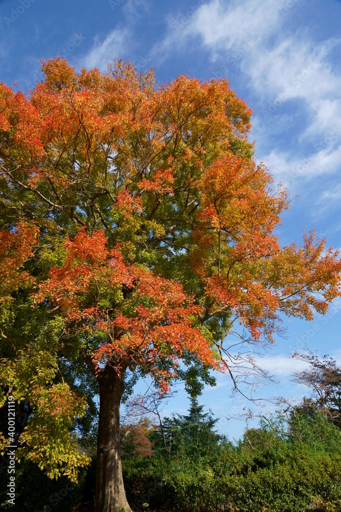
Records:
[[[337,0],[0,0],[0,79],[29,92],[41,78],[40,59],[57,55],[78,70],[104,70],[110,58],[123,57],[139,69],[155,67],[158,83],[183,73],[225,76],[253,109],[256,160],[297,196],[283,216],[281,241],[300,244],[303,228],[314,228],[341,248],[340,26]],[[290,383],[302,364],[288,352],[307,343],[341,362],[340,319],[336,304],[310,323],[286,320],[287,338],[260,361],[281,386],[258,386],[253,396],[302,397],[306,390]],[[200,401],[232,438],[244,424],[224,418],[249,403],[232,401],[230,392],[229,378],[219,376]],[[165,411],[187,406],[179,390]]]

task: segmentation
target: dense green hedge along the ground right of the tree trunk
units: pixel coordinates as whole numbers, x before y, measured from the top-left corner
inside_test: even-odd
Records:
[[[340,434],[318,412],[298,410],[286,432],[280,417],[263,421],[237,446],[221,438],[215,450],[191,456],[190,440],[186,449],[178,442],[168,456],[158,450],[157,456],[123,460],[128,501],[142,509],[147,497],[151,510],[181,512],[336,512]]]

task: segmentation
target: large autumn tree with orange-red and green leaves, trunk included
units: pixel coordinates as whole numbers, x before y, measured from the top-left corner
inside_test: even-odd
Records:
[[[77,382],[93,379],[96,511],[129,510],[124,390],[149,374],[164,392],[179,378],[195,395],[210,370],[237,386],[243,359],[226,336],[266,345],[281,313],[325,313],[341,264],[314,233],[280,246],[288,192],[256,165],[252,112],[225,79],[179,76],[156,88],[152,71],[121,60],[104,74],[61,58],[42,71],[29,96],[0,88],[2,237],[39,229],[0,321],[2,403],[11,393],[32,404],[19,455],[76,479],[88,457],[72,425],[90,396]],[[11,247],[1,258],[7,275]]]

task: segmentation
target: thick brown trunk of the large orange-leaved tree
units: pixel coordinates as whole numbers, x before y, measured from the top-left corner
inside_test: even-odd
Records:
[[[99,379],[95,512],[131,512],[125,495],[120,447],[120,403],[124,383],[113,373]]]

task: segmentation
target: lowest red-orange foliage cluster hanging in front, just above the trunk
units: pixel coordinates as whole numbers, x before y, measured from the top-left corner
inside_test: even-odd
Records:
[[[165,362],[176,368],[185,351],[219,368],[210,343],[193,326],[202,309],[195,297],[179,283],[125,263],[120,250],[108,251],[106,243],[103,230],[66,239],[64,265],[51,268],[37,298],[48,297],[60,310],[69,335],[82,331],[103,339],[91,354],[96,372],[106,364],[118,374],[141,365],[167,389],[172,375]]]

